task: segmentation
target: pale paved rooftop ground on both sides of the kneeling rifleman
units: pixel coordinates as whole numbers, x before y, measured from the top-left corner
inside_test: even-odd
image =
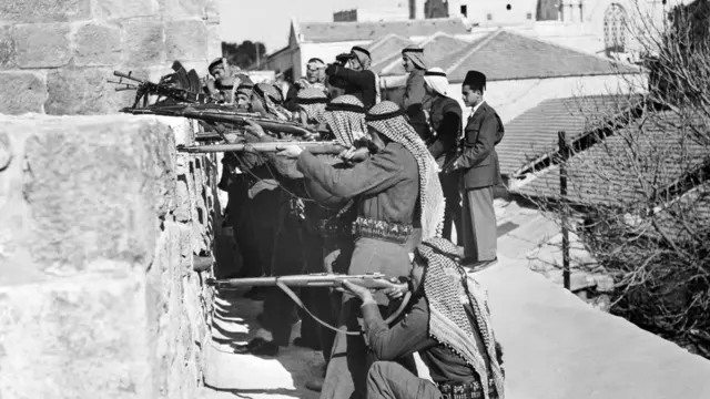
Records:
[[[554,246],[540,245],[559,231],[535,211],[499,205],[499,264],[477,278],[489,291],[505,347],[507,399],[710,398],[709,361],[594,309],[556,285],[555,276],[531,272],[540,259],[559,258]],[[321,370],[320,354],[295,347],[277,359],[229,354],[231,345],[251,338],[261,304],[234,297],[216,307],[205,370],[213,388],[204,399],[318,397],[304,385]]]

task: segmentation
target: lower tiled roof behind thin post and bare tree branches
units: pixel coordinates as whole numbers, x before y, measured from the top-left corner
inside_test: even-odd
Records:
[[[710,162],[708,149],[690,137],[688,125],[670,112],[652,113],[570,157],[568,198],[579,204],[645,207],[656,191]],[[516,191],[559,197],[558,166],[548,167]]]

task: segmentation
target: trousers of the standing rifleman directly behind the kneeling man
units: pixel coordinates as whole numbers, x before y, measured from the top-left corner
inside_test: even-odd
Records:
[[[408,248],[408,244],[399,245],[373,238],[358,238],[355,243],[348,274],[379,272],[388,277],[408,276],[412,268]],[[381,304],[381,314],[385,317],[390,315],[397,305],[389,304],[387,297],[382,294],[377,295],[375,299]],[[339,328],[349,331],[362,330],[358,323],[359,306],[359,299],[346,294],[343,295]],[[375,360],[362,335],[337,334],[321,398],[363,398],[367,371]],[[407,356],[399,362],[416,375],[416,364],[413,356]]]

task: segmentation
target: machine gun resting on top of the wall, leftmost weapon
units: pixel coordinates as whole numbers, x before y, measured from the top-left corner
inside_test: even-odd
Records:
[[[143,100],[143,106],[144,108],[148,106],[148,100],[150,94],[155,94],[159,98],[168,98],[173,101],[183,102],[183,103],[205,104],[205,103],[215,102],[215,100],[209,95],[191,92],[185,89],[175,88],[173,86],[172,83],[169,84],[168,81],[170,81],[171,75],[165,75],[161,78],[160,82],[153,83],[148,80],[132,76],[131,73],[132,72],[123,73],[119,71],[113,71],[113,75],[120,79],[118,82],[109,81],[109,83],[123,85],[122,88],[115,88],[115,91],[124,91],[124,90],[136,91],[135,101],[133,102],[133,106],[131,106],[132,109],[135,109],[139,102],[141,102],[141,100]],[[133,81],[138,84],[123,82],[124,79]]]

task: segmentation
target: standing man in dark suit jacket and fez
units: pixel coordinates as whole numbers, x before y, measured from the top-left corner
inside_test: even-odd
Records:
[[[466,265],[475,268],[497,260],[493,188],[503,182],[496,145],[505,131],[496,111],[483,99],[485,90],[486,75],[469,71],[462,94],[471,114],[459,144],[460,155],[449,168],[463,174],[464,255]]]

